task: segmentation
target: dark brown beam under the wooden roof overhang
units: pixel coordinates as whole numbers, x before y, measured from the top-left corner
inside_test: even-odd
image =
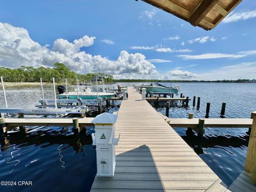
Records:
[[[189,18],[189,22],[193,26],[197,26],[200,21],[205,17],[212,7],[218,3],[219,0],[203,1]]]

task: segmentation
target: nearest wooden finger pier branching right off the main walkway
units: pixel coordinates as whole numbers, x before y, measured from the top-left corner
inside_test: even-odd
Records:
[[[198,118],[166,118],[172,127],[191,127],[198,126]],[[251,118],[205,118],[204,127],[251,127]]]

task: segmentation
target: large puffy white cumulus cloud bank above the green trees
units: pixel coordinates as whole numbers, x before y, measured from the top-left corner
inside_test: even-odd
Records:
[[[84,36],[70,43],[60,38],[49,49],[47,45],[41,46],[33,41],[26,29],[0,22],[0,66],[53,67],[53,63],[62,62],[71,70],[81,73],[158,75],[156,67],[140,53],[121,51],[117,60],[113,61],[81,51],[82,47],[91,46],[94,39]]]

